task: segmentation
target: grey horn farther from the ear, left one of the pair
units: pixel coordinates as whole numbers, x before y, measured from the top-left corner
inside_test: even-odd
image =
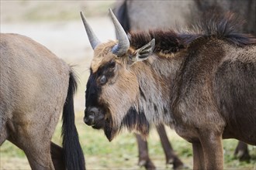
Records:
[[[80,15],[81,15],[81,20],[83,20],[84,22],[85,30],[87,32],[87,36],[91,43],[92,49],[95,49],[95,47],[98,46],[101,42],[99,41],[97,36],[95,36],[95,33],[92,31],[91,26],[88,25],[88,22],[86,21],[85,15],[83,14],[83,12],[80,12]]]

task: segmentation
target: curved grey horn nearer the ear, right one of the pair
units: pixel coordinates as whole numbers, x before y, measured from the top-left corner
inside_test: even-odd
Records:
[[[117,56],[123,56],[123,54],[126,53],[129,49],[130,42],[128,36],[126,35],[126,32],[116,19],[116,16],[113,14],[111,8],[109,8],[109,12],[116,29],[116,38],[118,39],[118,44],[116,44],[116,46],[113,46],[112,53],[116,54]]]

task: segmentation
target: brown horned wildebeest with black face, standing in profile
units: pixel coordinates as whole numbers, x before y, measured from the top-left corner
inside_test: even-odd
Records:
[[[223,169],[222,138],[256,145],[256,39],[232,13],[190,32],[151,30],[129,38],[110,10],[118,41],[94,49],[85,123],[111,141],[123,128],[147,136],[164,123],[192,143],[194,169]]]

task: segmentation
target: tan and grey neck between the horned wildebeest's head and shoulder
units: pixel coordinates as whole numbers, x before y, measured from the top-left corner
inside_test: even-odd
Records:
[[[176,53],[169,58],[153,55],[134,66],[140,90],[134,108],[144,113],[150,124],[172,124],[170,95],[182,62],[183,57]]]

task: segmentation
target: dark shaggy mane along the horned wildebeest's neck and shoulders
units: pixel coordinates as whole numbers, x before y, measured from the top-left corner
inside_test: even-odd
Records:
[[[171,29],[130,32],[130,44],[133,48],[138,49],[150,42],[151,39],[155,39],[154,53],[175,53],[179,49],[189,46],[196,39],[208,39],[210,37],[224,39],[237,46],[256,44],[254,36],[237,32],[242,24],[244,21],[238,19],[234,13],[213,15],[213,12],[209,12],[191,30],[186,32],[175,32]]]

